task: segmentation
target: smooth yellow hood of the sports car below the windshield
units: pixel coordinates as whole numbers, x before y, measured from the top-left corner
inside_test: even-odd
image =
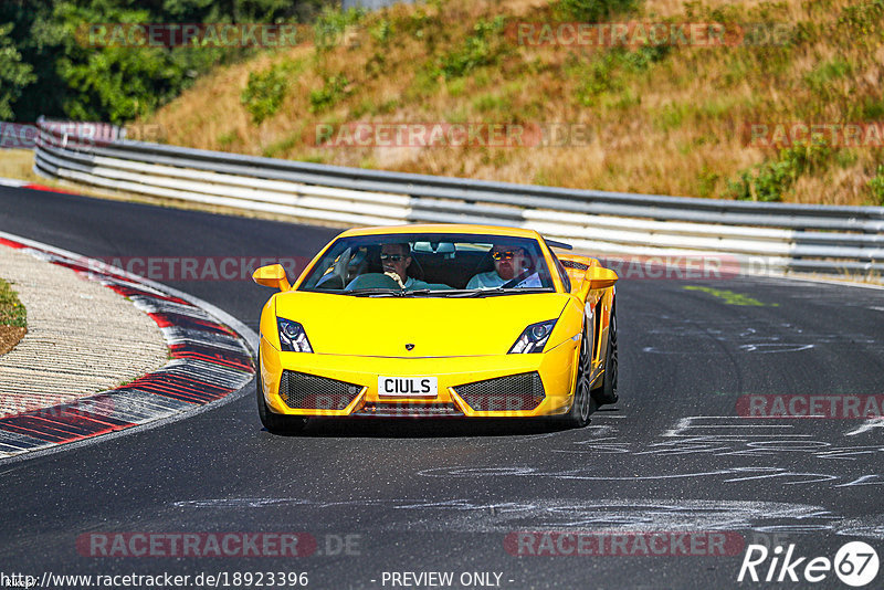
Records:
[[[556,319],[568,295],[354,297],[288,292],[276,315],[304,326],[314,352],[375,357],[504,355],[530,324]],[[556,345],[572,334],[554,331]],[[408,350],[406,345],[414,345]]]

